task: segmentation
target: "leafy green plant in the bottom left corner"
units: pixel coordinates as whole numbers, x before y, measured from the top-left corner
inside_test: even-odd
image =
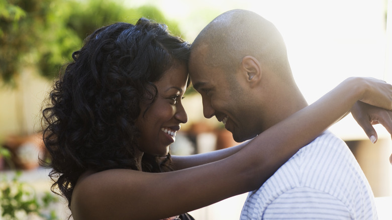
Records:
[[[59,219],[56,211],[50,208],[51,204],[58,202],[58,198],[50,192],[46,192],[39,198],[31,185],[20,181],[20,176],[21,172],[16,172],[11,180],[2,176],[0,181],[2,219],[21,219],[31,214],[41,219]]]

